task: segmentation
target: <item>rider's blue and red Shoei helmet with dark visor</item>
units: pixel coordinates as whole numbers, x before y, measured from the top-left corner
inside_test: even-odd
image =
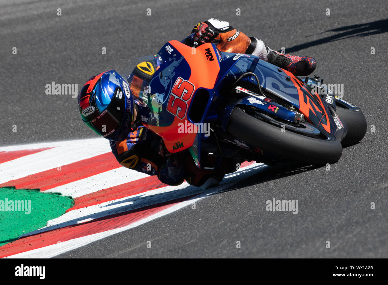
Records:
[[[82,120],[97,134],[121,142],[133,123],[133,97],[114,69],[90,78],[78,94]]]

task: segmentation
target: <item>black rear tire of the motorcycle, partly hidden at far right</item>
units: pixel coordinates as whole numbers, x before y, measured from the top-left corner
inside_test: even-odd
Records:
[[[336,111],[341,122],[348,126],[348,132],[343,138],[341,144],[343,147],[349,147],[360,142],[366,133],[366,119],[361,111],[353,111],[337,105]]]

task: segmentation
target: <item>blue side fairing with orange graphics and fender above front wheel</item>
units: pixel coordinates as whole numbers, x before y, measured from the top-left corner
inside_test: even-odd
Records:
[[[234,83],[234,81],[236,81],[236,79],[239,78],[241,74],[246,72],[253,72],[258,77],[262,90],[268,93],[272,93],[277,97],[285,100],[289,104],[294,105],[296,109],[300,108],[300,99],[298,91],[303,94],[303,100],[307,100],[308,97],[309,100],[314,102],[314,106],[317,107],[314,107],[315,114],[310,114],[308,119],[314,125],[321,128],[322,131],[324,131],[324,129],[320,127],[320,124],[327,124],[327,119],[325,115],[327,113],[329,114],[328,123],[330,125],[331,133],[333,133],[339,139],[341,139],[342,136],[346,133],[346,127],[339,128],[336,125],[333,116],[331,115],[332,110],[329,109],[329,105],[326,104],[324,100],[322,100],[324,104],[324,109],[322,109],[318,100],[311,94],[311,87],[309,85],[304,85],[303,83],[300,83],[301,85],[303,85],[303,88],[301,88],[300,86],[297,87],[296,84],[294,84],[294,82],[291,80],[290,76],[288,76],[283,69],[274,66],[273,64],[270,64],[264,60],[260,60],[254,55],[233,54],[226,52],[221,52],[221,55],[223,60],[222,62],[220,62],[221,70],[218,77],[219,81],[217,82],[214,88],[215,96],[218,95],[218,92],[223,87],[230,86],[230,84]],[[239,80],[240,84],[243,82],[257,86],[257,81],[252,75],[244,76]],[[221,118],[221,125],[223,130],[225,130],[229,116],[236,105],[253,105],[257,109],[260,109],[262,112],[274,115],[273,112],[269,111],[269,104],[267,102],[263,101],[258,97],[256,97],[256,100],[249,101],[248,99],[251,97],[252,96],[249,96],[247,94],[246,98],[240,99],[237,102],[233,102],[232,104],[227,105],[222,110],[219,116]],[[255,103],[257,101],[261,101],[261,103]],[[275,116],[280,117],[281,119],[284,119],[289,122],[294,121],[296,112],[293,112],[280,104],[276,104],[275,102],[270,102],[270,104],[279,108],[277,109]]]

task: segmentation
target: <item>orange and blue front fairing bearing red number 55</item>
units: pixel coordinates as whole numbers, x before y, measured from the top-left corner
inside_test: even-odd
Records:
[[[194,123],[187,117],[191,101],[199,87],[213,90],[220,65],[213,45],[202,45],[193,53],[191,47],[173,40],[158,55],[162,64],[152,76],[150,92],[140,98],[147,105],[140,114],[157,118],[143,123],[163,138],[169,152],[175,153],[193,144],[197,133],[182,133],[180,127],[185,121]]]

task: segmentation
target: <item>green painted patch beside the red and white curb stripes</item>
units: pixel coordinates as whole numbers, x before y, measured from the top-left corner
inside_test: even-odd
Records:
[[[0,188],[0,246],[38,230],[73,207],[71,197],[39,189]]]

